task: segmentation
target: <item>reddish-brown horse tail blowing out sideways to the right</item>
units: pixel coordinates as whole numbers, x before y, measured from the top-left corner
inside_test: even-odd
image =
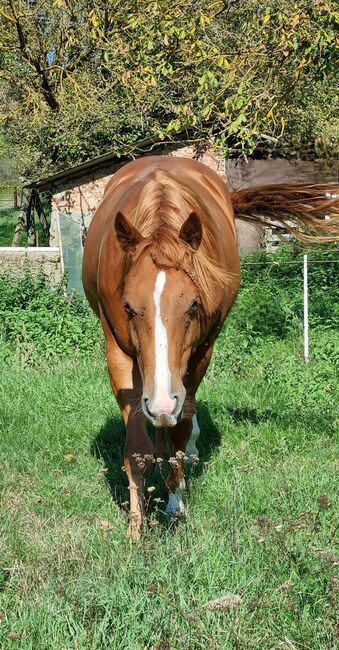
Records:
[[[261,185],[231,193],[235,217],[305,242],[339,241],[339,185]]]

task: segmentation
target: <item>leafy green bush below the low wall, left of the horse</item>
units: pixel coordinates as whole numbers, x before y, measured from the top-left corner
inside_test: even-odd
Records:
[[[0,354],[25,363],[91,354],[101,346],[101,327],[88,305],[66,297],[44,275],[0,277]]]

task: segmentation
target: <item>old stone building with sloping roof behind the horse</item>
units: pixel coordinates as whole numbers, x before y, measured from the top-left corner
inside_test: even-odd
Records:
[[[326,182],[338,179],[338,165],[326,166],[322,161],[289,161],[282,158],[266,160],[225,160],[218,149],[206,143],[175,142],[149,146],[144,143],[140,155],[164,155],[194,158],[222,176],[230,191],[243,187],[279,182]],[[148,149],[147,149],[148,144]],[[150,150],[151,149],[151,150]],[[128,158],[106,154],[71,169],[58,172],[31,183],[28,188],[50,192],[52,196],[50,246],[60,250],[60,272],[67,271],[69,288],[82,292],[82,246],[91,218],[112,175]],[[259,227],[237,220],[238,247],[249,252],[265,245]],[[266,235],[267,239],[267,235]]]

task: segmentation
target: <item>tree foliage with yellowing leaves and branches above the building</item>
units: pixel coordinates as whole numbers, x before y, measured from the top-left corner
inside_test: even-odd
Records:
[[[331,155],[334,0],[1,0],[0,117],[26,175],[188,129]],[[327,101],[326,101],[327,98]]]

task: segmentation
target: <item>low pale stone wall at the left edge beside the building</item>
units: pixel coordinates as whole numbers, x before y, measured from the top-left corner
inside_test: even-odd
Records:
[[[0,247],[0,274],[13,271],[15,275],[20,275],[26,268],[35,275],[42,271],[50,278],[52,284],[58,284],[62,279],[59,248]]]

